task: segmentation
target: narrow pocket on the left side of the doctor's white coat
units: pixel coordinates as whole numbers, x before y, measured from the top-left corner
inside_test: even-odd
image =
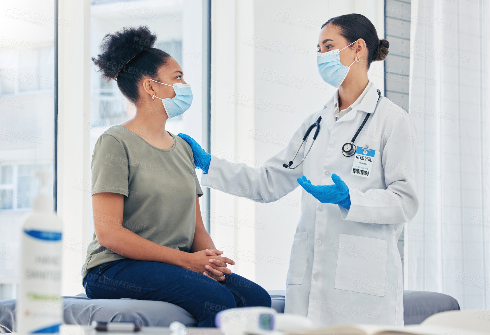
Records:
[[[286,285],[300,285],[308,263],[307,232],[294,234]]]

